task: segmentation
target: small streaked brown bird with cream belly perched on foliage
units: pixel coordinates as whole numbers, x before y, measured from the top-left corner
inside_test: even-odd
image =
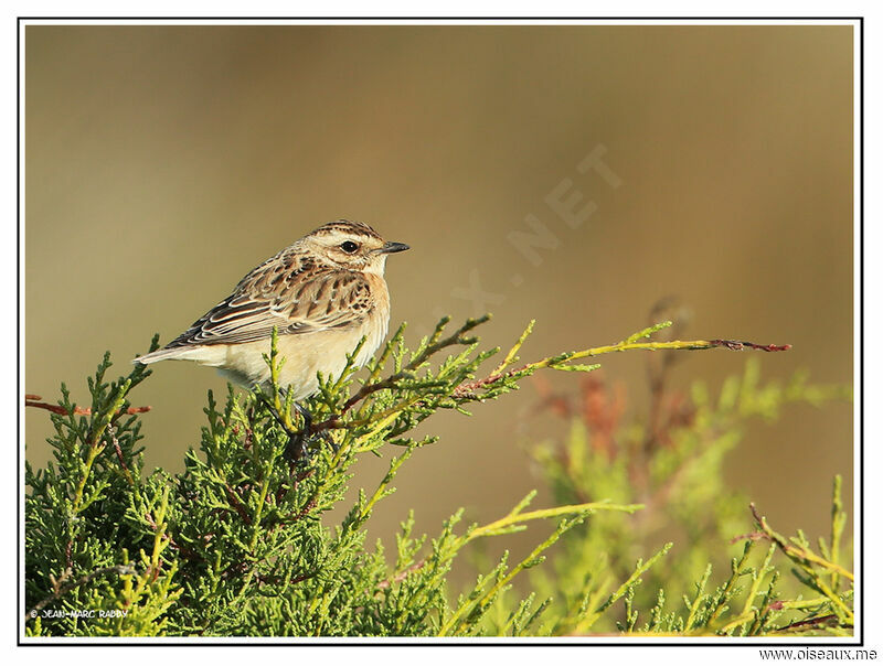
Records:
[[[264,355],[275,330],[285,359],[278,384],[297,404],[318,391],[319,373],[341,375],[362,337],[353,365],[362,367],[374,355],[390,325],[386,258],[407,249],[362,222],[325,224],[249,271],[164,347],[132,363],[192,361],[234,384],[266,389],[272,379]]]

